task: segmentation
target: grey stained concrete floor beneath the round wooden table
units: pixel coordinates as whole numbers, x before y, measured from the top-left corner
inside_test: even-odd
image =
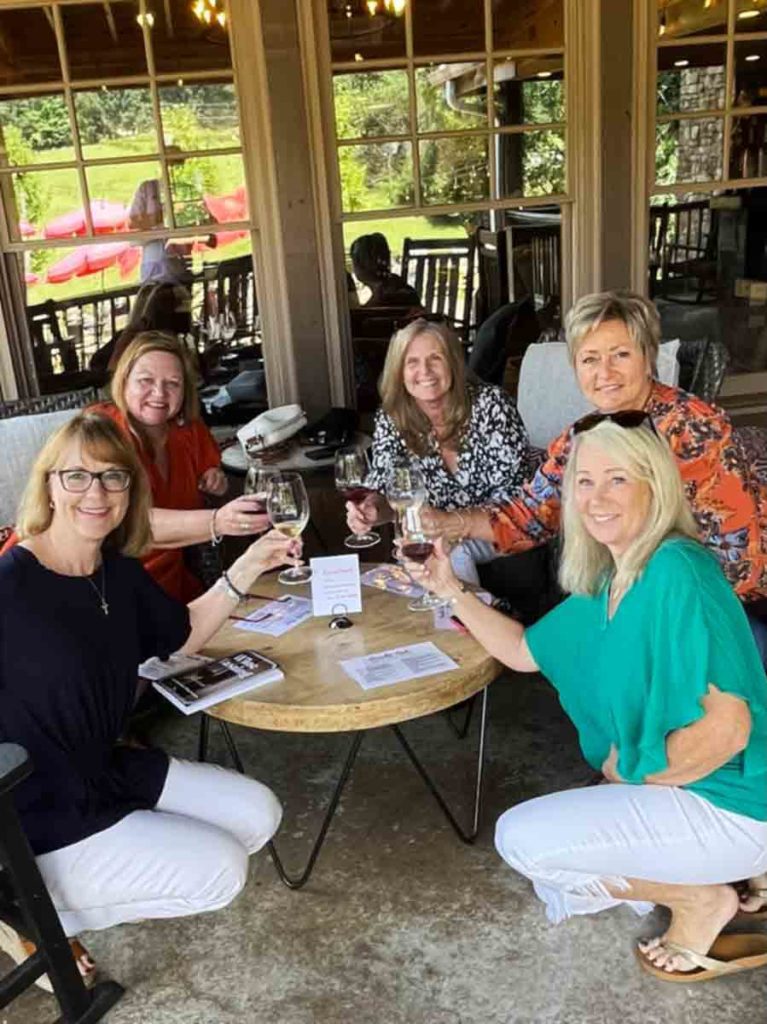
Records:
[[[158,727],[194,757],[195,723]],[[279,842],[302,860],[348,744],[344,736],[237,730],[246,767],[285,803]],[[459,741],[442,716],[408,734],[445,792],[469,794],[475,733]],[[216,760],[226,763],[217,728]],[[294,893],[266,856],[246,891],[197,919],[86,936],[127,989],[110,1024],[727,1024],[767,1018],[767,970],[706,985],[640,972],[632,944],[663,926],[621,907],[556,928],[530,887],[493,848],[512,803],[586,780],[551,689],[504,679],[491,691],[484,826],[461,844],[387,732],[368,737],[308,887]],[[465,806],[461,803],[461,806]],[[0,970],[7,962],[0,963]],[[53,999],[27,993],[0,1024],[48,1024]]]

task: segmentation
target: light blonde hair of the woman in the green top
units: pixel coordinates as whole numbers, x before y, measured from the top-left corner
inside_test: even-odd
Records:
[[[646,483],[650,490],[644,528],[617,563],[609,549],[589,534],[576,507],[578,454],[584,447],[598,449],[613,458],[632,479]],[[666,440],[649,426],[620,427],[604,420],[576,437],[562,486],[564,544],[559,582],[563,590],[570,594],[594,595],[614,575],[614,585],[625,593],[639,579],[655,549],[669,535],[696,540],[697,532],[676,460]]]

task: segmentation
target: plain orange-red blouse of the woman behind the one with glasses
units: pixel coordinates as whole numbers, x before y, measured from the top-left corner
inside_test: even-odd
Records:
[[[155,508],[185,510],[204,507],[205,500],[198,483],[207,469],[220,465],[221,453],[202,420],[171,424],[167,440],[166,478],[117,406],[102,402],[90,409],[94,413],[109,416],[130,437],[150,478],[152,504]],[[186,568],[182,548],[153,548],[141,561],[163,590],[184,604],[202,593],[200,581]]]

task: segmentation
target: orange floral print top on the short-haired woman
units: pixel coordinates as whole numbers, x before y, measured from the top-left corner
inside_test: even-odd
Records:
[[[718,557],[744,600],[767,595],[767,486],[752,471],[721,409],[655,382],[646,410],[668,440],[682,474],[700,540]],[[491,511],[500,551],[537,547],[559,529],[562,477],[572,427],[548,447],[543,465],[512,500]]]

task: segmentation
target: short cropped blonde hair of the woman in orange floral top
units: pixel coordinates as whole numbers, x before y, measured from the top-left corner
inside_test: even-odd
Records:
[[[654,375],[661,345],[661,317],[654,305],[635,292],[596,292],[578,300],[564,318],[570,362],[574,365],[586,336],[609,321],[620,321],[626,326],[629,337]]]

